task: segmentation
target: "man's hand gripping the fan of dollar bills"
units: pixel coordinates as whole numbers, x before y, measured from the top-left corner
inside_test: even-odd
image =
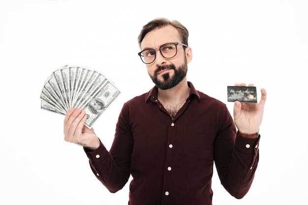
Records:
[[[85,110],[69,109],[64,118],[64,140],[96,150],[100,142],[93,128],[89,129],[84,125],[86,120]]]

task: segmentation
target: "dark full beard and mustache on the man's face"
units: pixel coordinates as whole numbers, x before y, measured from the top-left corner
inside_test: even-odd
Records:
[[[169,73],[166,73],[162,75],[163,80],[159,80],[157,78],[158,72],[165,69],[172,69],[174,71],[174,75],[171,77]],[[178,85],[185,78],[186,74],[187,74],[187,63],[185,59],[185,62],[178,68],[176,68],[174,64],[158,66],[154,72],[154,75],[150,77],[152,81],[155,83],[156,87],[158,87],[161,90],[167,90]]]

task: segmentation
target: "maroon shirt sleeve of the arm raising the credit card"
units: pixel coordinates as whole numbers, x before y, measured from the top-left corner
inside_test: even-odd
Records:
[[[242,137],[232,128],[231,116],[226,115],[228,120],[215,145],[216,169],[224,188],[241,199],[250,189],[258,165],[260,135],[256,139]]]

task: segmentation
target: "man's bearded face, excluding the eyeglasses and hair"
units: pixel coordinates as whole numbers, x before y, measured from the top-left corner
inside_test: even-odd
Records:
[[[180,34],[175,27],[164,26],[147,33],[141,42],[141,49],[155,49],[171,42],[182,43]],[[190,51],[190,48],[186,50]],[[186,77],[187,73],[187,58],[183,46],[178,45],[176,56],[168,59],[156,50],[155,60],[147,64],[147,68],[151,79],[159,89],[166,90],[176,86]]]

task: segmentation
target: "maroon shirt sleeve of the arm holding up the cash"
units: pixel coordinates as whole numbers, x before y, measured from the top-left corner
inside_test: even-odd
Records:
[[[122,109],[110,152],[107,151],[102,142],[94,151],[84,148],[89,158],[92,172],[112,193],[122,189],[130,176],[130,157],[133,141],[130,129],[123,120],[124,112]]]

